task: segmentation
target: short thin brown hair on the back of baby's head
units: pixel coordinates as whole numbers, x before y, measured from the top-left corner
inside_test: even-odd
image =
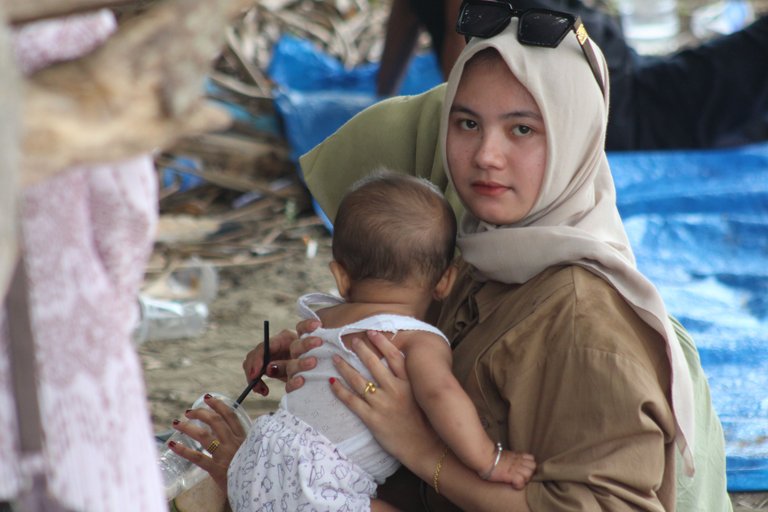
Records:
[[[456,216],[429,181],[379,170],[339,205],[333,258],[353,282],[416,278],[433,287],[453,260]]]

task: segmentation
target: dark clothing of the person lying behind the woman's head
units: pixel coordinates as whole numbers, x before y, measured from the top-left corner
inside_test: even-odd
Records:
[[[440,2],[410,2],[440,48]],[[607,150],[701,149],[768,140],[768,16],[695,48],[646,56],[629,46],[616,17],[580,0],[512,4],[581,16],[610,71]]]

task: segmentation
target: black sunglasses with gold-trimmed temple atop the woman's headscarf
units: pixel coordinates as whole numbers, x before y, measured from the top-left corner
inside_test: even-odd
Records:
[[[456,22],[456,32],[463,34],[467,41],[470,37],[489,38],[507,28],[512,18],[520,20],[517,26],[517,40],[529,46],[556,48],[568,31],[573,30],[600,91],[605,94],[595,50],[587,35],[587,29],[578,16],[549,9],[518,10],[504,1],[464,0]]]

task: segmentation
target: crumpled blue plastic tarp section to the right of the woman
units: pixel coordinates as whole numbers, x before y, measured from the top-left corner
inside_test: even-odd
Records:
[[[768,144],[609,155],[640,270],[690,331],[731,491],[768,489]]]

